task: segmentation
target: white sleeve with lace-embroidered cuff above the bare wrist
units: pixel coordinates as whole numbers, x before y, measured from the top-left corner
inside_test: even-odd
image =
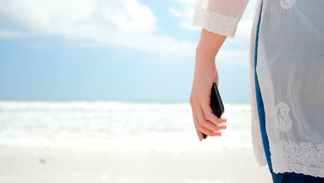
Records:
[[[192,25],[234,37],[249,0],[196,0]]]

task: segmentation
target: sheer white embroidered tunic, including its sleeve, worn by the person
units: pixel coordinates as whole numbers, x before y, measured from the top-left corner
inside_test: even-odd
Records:
[[[234,37],[249,0],[197,0],[192,24]],[[255,7],[250,42],[252,136],[266,165],[255,98]],[[324,177],[324,1],[263,0],[256,71],[274,173]]]

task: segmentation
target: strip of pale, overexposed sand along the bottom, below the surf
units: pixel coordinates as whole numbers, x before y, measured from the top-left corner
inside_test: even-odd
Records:
[[[252,150],[76,150],[0,146],[0,182],[271,182]]]

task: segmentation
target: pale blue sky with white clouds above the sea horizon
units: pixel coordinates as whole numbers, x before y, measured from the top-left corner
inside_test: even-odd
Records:
[[[195,0],[3,0],[0,99],[187,100]],[[224,101],[249,101],[251,1],[216,58]]]

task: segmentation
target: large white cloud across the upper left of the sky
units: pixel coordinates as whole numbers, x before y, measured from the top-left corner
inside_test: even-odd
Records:
[[[0,17],[28,36],[89,40],[169,58],[195,55],[196,43],[156,35],[154,13],[138,0],[1,0]]]

